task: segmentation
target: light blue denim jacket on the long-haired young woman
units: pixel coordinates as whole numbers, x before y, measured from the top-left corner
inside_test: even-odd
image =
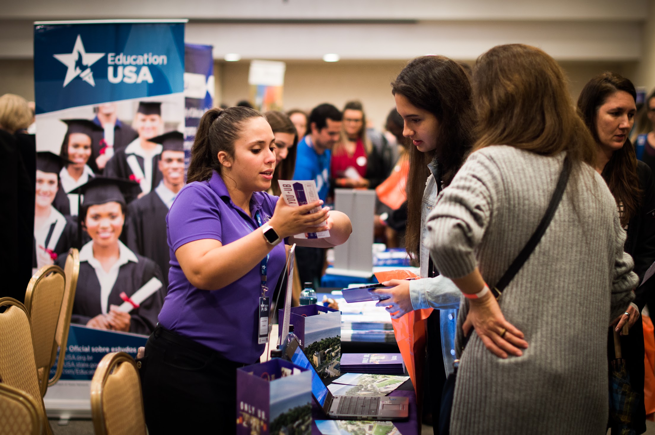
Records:
[[[409,281],[409,296],[414,309],[434,308],[440,310],[441,326],[441,353],[443,354],[443,368],[446,375],[453,373],[453,361],[455,360],[455,331],[457,328],[457,313],[462,292],[455,286],[455,283],[448,278],[436,276],[428,278],[428,261],[430,251],[423,244],[426,237],[425,221],[432,212],[437,201],[437,195],[441,191],[441,180],[439,166],[436,161],[431,162],[431,175],[423,191],[421,203],[421,247],[419,261],[421,264],[421,279]]]

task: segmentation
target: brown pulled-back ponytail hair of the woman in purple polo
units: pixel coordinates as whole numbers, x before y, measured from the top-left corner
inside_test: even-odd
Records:
[[[187,183],[206,181],[212,173],[221,173],[218,153],[225,151],[234,157],[234,141],[238,139],[240,126],[248,118],[262,116],[248,107],[214,107],[202,115],[191,147],[191,162],[187,170]]]

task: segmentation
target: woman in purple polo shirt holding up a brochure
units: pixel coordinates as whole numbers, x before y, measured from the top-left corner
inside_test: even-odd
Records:
[[[346,215],[327,207],[305,214],[322,201],[290,207],[265,193],[274,143],[271,126],[253,109],[211,109],[200,120],[189,184],[166,217],[168,294],[141,361],[150,434],[210,425],[234,433],[236,368],[257,362],[264,351],[260,298],[272,295],[284,268],[280,241],[332,247],[352,231]],[[293,238],[326,229],[327,239]]]

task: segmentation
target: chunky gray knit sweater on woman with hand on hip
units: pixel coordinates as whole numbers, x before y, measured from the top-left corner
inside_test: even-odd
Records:
[[[507,146],[474,152],[428,217],[425,243],[440,273],[458,278],[477,266],[494,285],[544,215],[563,158]],[[574,166],[548,230],[498,301],[529,348],[501,359],[472,334],[451,434],[605,434],[608,324],[637,285],[625,239],[603,179]],[[458,350],[466,313],[462,298]]]

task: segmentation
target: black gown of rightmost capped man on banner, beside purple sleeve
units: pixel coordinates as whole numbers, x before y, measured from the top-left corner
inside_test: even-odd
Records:
[[[128,207],[126,225],[127,247],[135,254],[153,260],[164,274],[164,285],[168,288],[170,251],[166,237],[166,215],[168,207],[153,190],[132,201]]]

